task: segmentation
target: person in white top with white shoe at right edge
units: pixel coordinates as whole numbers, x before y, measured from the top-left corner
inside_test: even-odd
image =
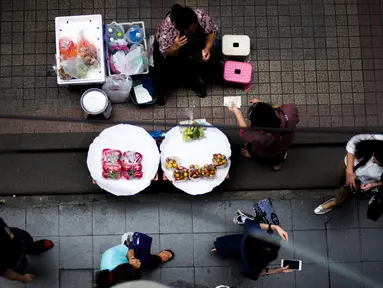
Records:
[[[346,150],[346,167],[342,164],[342,186],[336,190],[335,198],[315,208],[314,213],[317,215],[326,214],[355,193],[366,193],[383,185],[383,135],[356,135],[348,141]]]

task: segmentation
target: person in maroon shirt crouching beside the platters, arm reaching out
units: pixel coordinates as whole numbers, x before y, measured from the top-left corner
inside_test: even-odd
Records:
[[[241,153],[244,157],[260,160],[271,164],[274,171],[282,168],[287,157],[287,149],[294,140],[293,132],[268,132],[267,128],[296,128],[299,123],[298,110],[294,104],[272,106],[258,99],[250,101],[248,119],[250,128],[262,127],[265,130],[252,130],[249,128],[241,110],[229,106],[237,119],[241,129],[241,138],[246,142]]]

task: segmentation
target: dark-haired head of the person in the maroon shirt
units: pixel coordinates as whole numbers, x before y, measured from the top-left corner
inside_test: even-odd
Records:
[[[276,115],[273,106],[264,102],[258,102],[251,106],[248,118],[251,127],[279,128],[281,126],[281,120]]]

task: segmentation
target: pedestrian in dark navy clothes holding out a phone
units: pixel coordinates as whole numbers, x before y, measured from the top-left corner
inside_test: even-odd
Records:
[[[243,234],[218,237],[211,250],[223,258],[238,258],[242,262],[242,275],[251,280],[259,276],[288,273],[289,267],[269,268],[277,259],[280,240],[287,242],[288,234],[278,225],[258,223],[253,216],[238,210],[234,222],[243,225]]]

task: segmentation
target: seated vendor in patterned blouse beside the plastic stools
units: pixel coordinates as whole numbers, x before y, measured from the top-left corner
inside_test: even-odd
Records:
[[[217,26],[205,11],[179,4],[172,7],[158,27],[154,42],[158,104],[164,105],[169,88],[180,84],[193,89],[199,97],[206,96],[206,76],[219,74],[211,73],[220,65],[214,49],[217,34]]]

